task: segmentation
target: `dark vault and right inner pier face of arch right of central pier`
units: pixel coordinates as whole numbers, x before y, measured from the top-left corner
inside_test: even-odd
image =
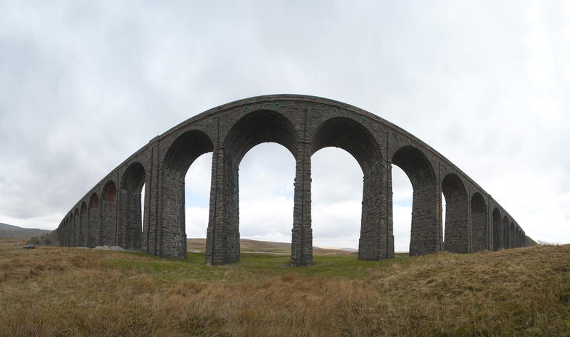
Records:
[[[363,172],[363,200],[358,259],[393,256],[393,237],[388,242],[385,166],[378,142],[361,123],[351,118],[331,118],[318,125],[311,139],[311,155],[323,147],[339,147],[350,153]],[[391,231],[390,231],[391,233]]]

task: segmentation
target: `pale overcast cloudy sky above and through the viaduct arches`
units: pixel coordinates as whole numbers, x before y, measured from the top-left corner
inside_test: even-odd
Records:
[[[460,167],[532,239],[570,242],[569,1],[0,0],[0,222],[55,229],[156,135],[257,95],[316,95],[408,130]],[[209,170],[187,173],[204,237]],[[362,171],[312,157],[314,244],[358,247]],[[393,167],[396,251],[412,188]],[[290,242],[294,158],[250,150],[242,237]]]

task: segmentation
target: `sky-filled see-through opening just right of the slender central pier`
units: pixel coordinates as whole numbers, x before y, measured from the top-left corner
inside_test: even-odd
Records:
[[[312,155],[311,171],[313,245],[358,251],[363,191],[360,165],[345,150],[325,147]]]

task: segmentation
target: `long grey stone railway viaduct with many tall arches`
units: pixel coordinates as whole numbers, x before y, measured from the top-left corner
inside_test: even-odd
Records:
[[[363,171],[359,259],[394,256],[392,165],[408,175],[413,187],[411,256],[524,244],[524,231],[513,217],[432,147],[364,110],[305,95],[238,100],[153,138],[73,206],[58,227],[61,244],[118,245],[185,258],[185,175],[197,157],[212,152],[206,263],[239,261],[239,162],[261,142],[283,145],[296,160],[291,265],[313,261],[311,155],[329,146],[349,152]]]

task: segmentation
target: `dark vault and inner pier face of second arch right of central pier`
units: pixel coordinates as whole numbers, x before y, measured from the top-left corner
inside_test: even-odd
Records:
[[[413,188],[410,256],[439,252],[440,192],[430,160],[418,148],[406,145],[394,153],[392,162],[408,175]]]

